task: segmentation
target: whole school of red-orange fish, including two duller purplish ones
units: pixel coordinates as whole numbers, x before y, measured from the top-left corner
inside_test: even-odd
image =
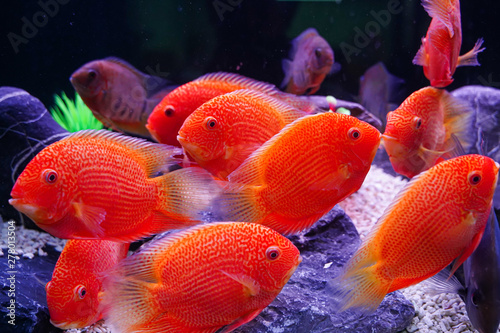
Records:
[[[422,5],[432,22],[413,61],[431,86],[389,112],[383,133],[299,96],[316,92],[334,64],[313,28],[283,61],[286,92],[222,72],[174,89],[116,58],[73,73],[105,126],[142,138],[73,133],[43,149],[12,189],[11,205],[69,239],[46,285],[53,325],[104,318],[113,332],[200,333],[244,325],[302,260],[285,236],[356,192],[379,146],[412,179],[329,281],[332,310],[369,314],[386,294],[451,263],[456,270],[481,240],[500,165],[458,153],[472,145],[472,111],[442,89],[457,66],[479,65],[482,39],[459,56],[459,1]],[[219,221],[204,222],[206,212]],[[131,242],[154,235],[127,257]]]

